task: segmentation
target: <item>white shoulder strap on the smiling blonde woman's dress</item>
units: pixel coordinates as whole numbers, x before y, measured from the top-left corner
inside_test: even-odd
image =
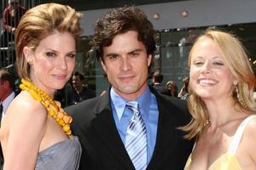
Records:
[[[253,114],[251,116],[247,116],[247,118],[245,118],[241,124],[239,125],[239,127],[236,130],[236,133],[234,135],[234,138],[230,144],[230,148],[228,150],[229,153],[235,155],[236,154],[236,150],[238,148],[238,145],[240,144],[241,141],[241,136],[244,132],[245,127],[247,126],[247,123],[250,122],[253,118],[256,118],[256,115]]]

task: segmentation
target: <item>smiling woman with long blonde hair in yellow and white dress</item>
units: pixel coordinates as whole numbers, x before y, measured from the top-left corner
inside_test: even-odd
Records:
[[[245,76],[246,75],[246,76]],[[197,138],[186,169],[256,169],[255,87],[241,42],[207,30],[189,54],[187,138]]]

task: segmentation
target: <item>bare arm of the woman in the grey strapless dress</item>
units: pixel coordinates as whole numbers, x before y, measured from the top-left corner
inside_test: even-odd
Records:
[[[9,136],[4,152],[4,170],[32,170],[44,137],[47,113],[38,101],[15,101],[10,105]]]

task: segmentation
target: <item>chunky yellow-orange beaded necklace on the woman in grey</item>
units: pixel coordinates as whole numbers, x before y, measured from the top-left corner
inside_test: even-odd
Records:
[[[67,135],[71,135],[70,123],[73,119],[61,108],[61,103],[59,101],[51,99],[43,90],[37,88],[32,82],[26,81],[23,78],[21,79],[20,89],[26,90],[32,95],[33,99],[40,101],[48,111],[48,115],[55,119],[55,122],[62,127],[62,130],[67,133]]]

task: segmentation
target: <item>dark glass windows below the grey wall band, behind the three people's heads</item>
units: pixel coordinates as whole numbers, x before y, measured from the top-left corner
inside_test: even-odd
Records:
[[[214,26],[218,29],[231,31],[240,37],[241,42],[247,48],[249,58],[256,71],[256,23]],[[189,76],[188,55],[190,48],[206,27],[194,27],[186,29],[169,29],[155,32],[156,51],[153,59],[153,67],[148,77],[151,83],[151,76],[154,71],[160,71],[164,75],[163,84],[168,81],[177,83],[181,88],[184,77]],[[96,60],[96,53],[90,49],[91,37],[82,37],[79,42],[79,53],[77,56],[76,71],[84,73],[85,81],[90,88],[96,90],[96,95],[108,89],[108,80],[103,76],[102,66]]]

